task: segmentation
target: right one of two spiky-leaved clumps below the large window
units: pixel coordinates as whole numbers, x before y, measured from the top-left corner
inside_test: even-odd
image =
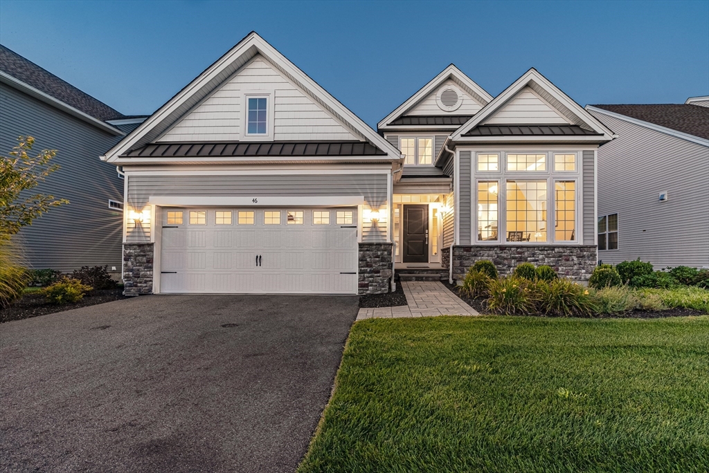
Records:
[[[596,308],[586,287],[568,279],[537,285],[540,312],[556,317],[591,317]]]

